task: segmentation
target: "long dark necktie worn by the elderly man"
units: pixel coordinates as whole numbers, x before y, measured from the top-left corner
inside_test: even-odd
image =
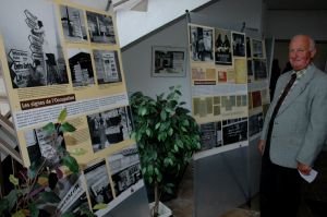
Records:
[[[274,108],[274,111],[272,111],[272,114],[271,114],[271,118],[270,118],[270,121],[269,121],[269,128],[268,128],[268,134],[267,134],[267,141],[266,141],[266,147],[265,147],[265,153],[264,155],[267,155],[269,148],[270,148],[270,138],[271,138],[271,132],[272,132],[272,128],[274,128],[274,121],[275,121],[275,118],[278,113],[278,110],[280,108],[280,106],[282,105],[282,101],[284,100],[286,96],[288,95],[288,93],[290,92],[292,85],[294,84],[296,80],[296,73],[293,73],[292,74],[292,77],[290,79],[289,83],[287,84],[287,86],[284,87],[282,94],[280,95],[275,108]]]

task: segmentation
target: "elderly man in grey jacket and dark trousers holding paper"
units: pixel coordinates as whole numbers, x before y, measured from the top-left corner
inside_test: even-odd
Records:
[[[263,155],[262,217],[296,216],[302,181],[299,172],[310,174],[327,138],[327,74],[312,63],[315,53],[310,36],[291,39],[293,70],[277,81],[258,142]]]

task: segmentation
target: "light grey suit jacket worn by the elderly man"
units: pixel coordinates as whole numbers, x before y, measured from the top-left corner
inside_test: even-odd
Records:
[[[267,111],[262,140],[267,138],[269,121],[280,93],[291,77],[282,74]],[[313,166],[327,138],[327,74],[311,64],[289,92],[276,116],[270,140],[270,160],[288,168],[298,161]]]

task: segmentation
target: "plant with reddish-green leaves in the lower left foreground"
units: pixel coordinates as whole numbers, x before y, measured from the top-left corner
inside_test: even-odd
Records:
[[[0,215],[24,217],[24,216],[74,216],[73,213],[47,213],[43,209],[49,203],[58,203],[60,198],[52,191],[59,179],[63,178],[63,166],[70,172],[78,172],[78,164],[64,147],[62,147],[63,133],[73,132],[76,129],[65,121],[66,109],[63,109],[58,122],[49,122],[43,130],[51,136],[51,146],[56,149],[56,155],[60,157],[55,161],[41,157],[31,164],[28,169],[23,169],[19,174],[10,174],[9,180],[13,184],[13,190],[0,200]],[[92,212],[88,207],[82,207],[81,212],[88,216]]]

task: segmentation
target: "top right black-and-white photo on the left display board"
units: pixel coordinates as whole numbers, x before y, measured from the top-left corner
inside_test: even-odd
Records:
[[[110,15],[86,11],[88,33],[92,43],[114,45],[116,33]]]

